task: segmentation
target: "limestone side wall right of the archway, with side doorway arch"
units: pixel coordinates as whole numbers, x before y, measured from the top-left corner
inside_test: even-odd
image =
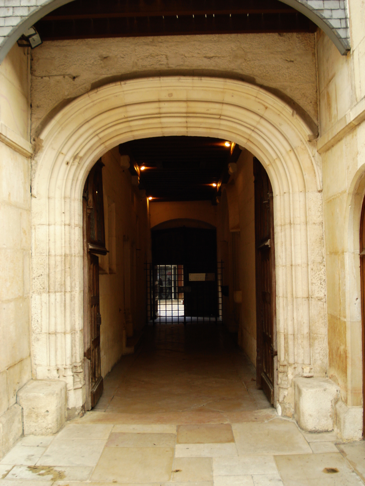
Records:
[[[317,35],[326,236],[329,377],[348,406],[362,404],[359,226],[365,194],[365,2],[349,0],[352,50]],[[360,411],[359,411],[360,414]],[[360,424],[360,415],[359,415]],[[360,425],[359,425],[360,427]]]

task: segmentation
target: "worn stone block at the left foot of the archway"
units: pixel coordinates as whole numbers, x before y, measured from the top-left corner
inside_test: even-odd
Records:
[[[18,391],[17,401],[24,435],[55,434],[66,421],[66,383],[61,380],[32,380]]]

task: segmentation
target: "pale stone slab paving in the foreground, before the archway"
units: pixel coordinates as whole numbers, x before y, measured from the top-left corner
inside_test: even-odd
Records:
[[[107,416],[117,423],[105,423]],[[270,417],[232,425],[123,424],[117,414],[90,412],[55,436],[22,438],[1,461],[0,486],[364,484],[364,443],[339,444],[333,433],[308,434]]]

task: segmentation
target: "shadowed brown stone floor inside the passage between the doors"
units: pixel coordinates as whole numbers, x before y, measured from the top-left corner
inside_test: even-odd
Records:
[[[269,407],[254,366],[225,328],[199,323],[148,326],[136,354],[106,377],[95,410],[200,423]]]

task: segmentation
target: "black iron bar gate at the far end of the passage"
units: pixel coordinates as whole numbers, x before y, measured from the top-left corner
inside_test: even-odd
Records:
[[[195,262],[146,263],[147,323],[222,319],[223,261],[217,263],[215,272],[193,270]]]

